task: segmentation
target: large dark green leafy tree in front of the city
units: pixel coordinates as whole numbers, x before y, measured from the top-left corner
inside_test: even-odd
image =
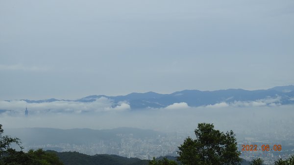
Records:
[[[234,132],[220,132],[213,124],[199,123],[196,140],[188,137],[178,148],[178,161],[184,165],[240,165]]]

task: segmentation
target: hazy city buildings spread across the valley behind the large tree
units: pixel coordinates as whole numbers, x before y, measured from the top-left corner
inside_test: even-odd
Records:
[[[294,135],[294,134],[293,134]],[[151,160],[153,157],[173,156],[177,157],[178,146],[182,144],[183,140],[189,136],[187,133],[176,132],[166,134],[165,136],[158,136],[152,139],[134,138],[132,134],[124,135],[118,134],[120,141],[107,140],[99,141],[98,143],[90,144],[44,144],[44,145],[29,145],[25,149],[56,150],[58,152],[79,152],[87,155],[96,154],[114,154],[127,158],[139,158]],[[242,145],[257,145],[257,151],[242,151]],[[269,151],[262,151],[263,145],[269,145]],[[274,145],[281,145],[281,151],[274,151]],[[264,149],[264,148],[263,148]],[[255,138],[245,138],[244,141],[238,141],[238,150],[241,152],[240,157],[252,161],[255,158],[262,158],[265,165],[272,165],[278,159],[288,158],[294,154],[293,141],[281,139],[281,141],[268,141]]]

